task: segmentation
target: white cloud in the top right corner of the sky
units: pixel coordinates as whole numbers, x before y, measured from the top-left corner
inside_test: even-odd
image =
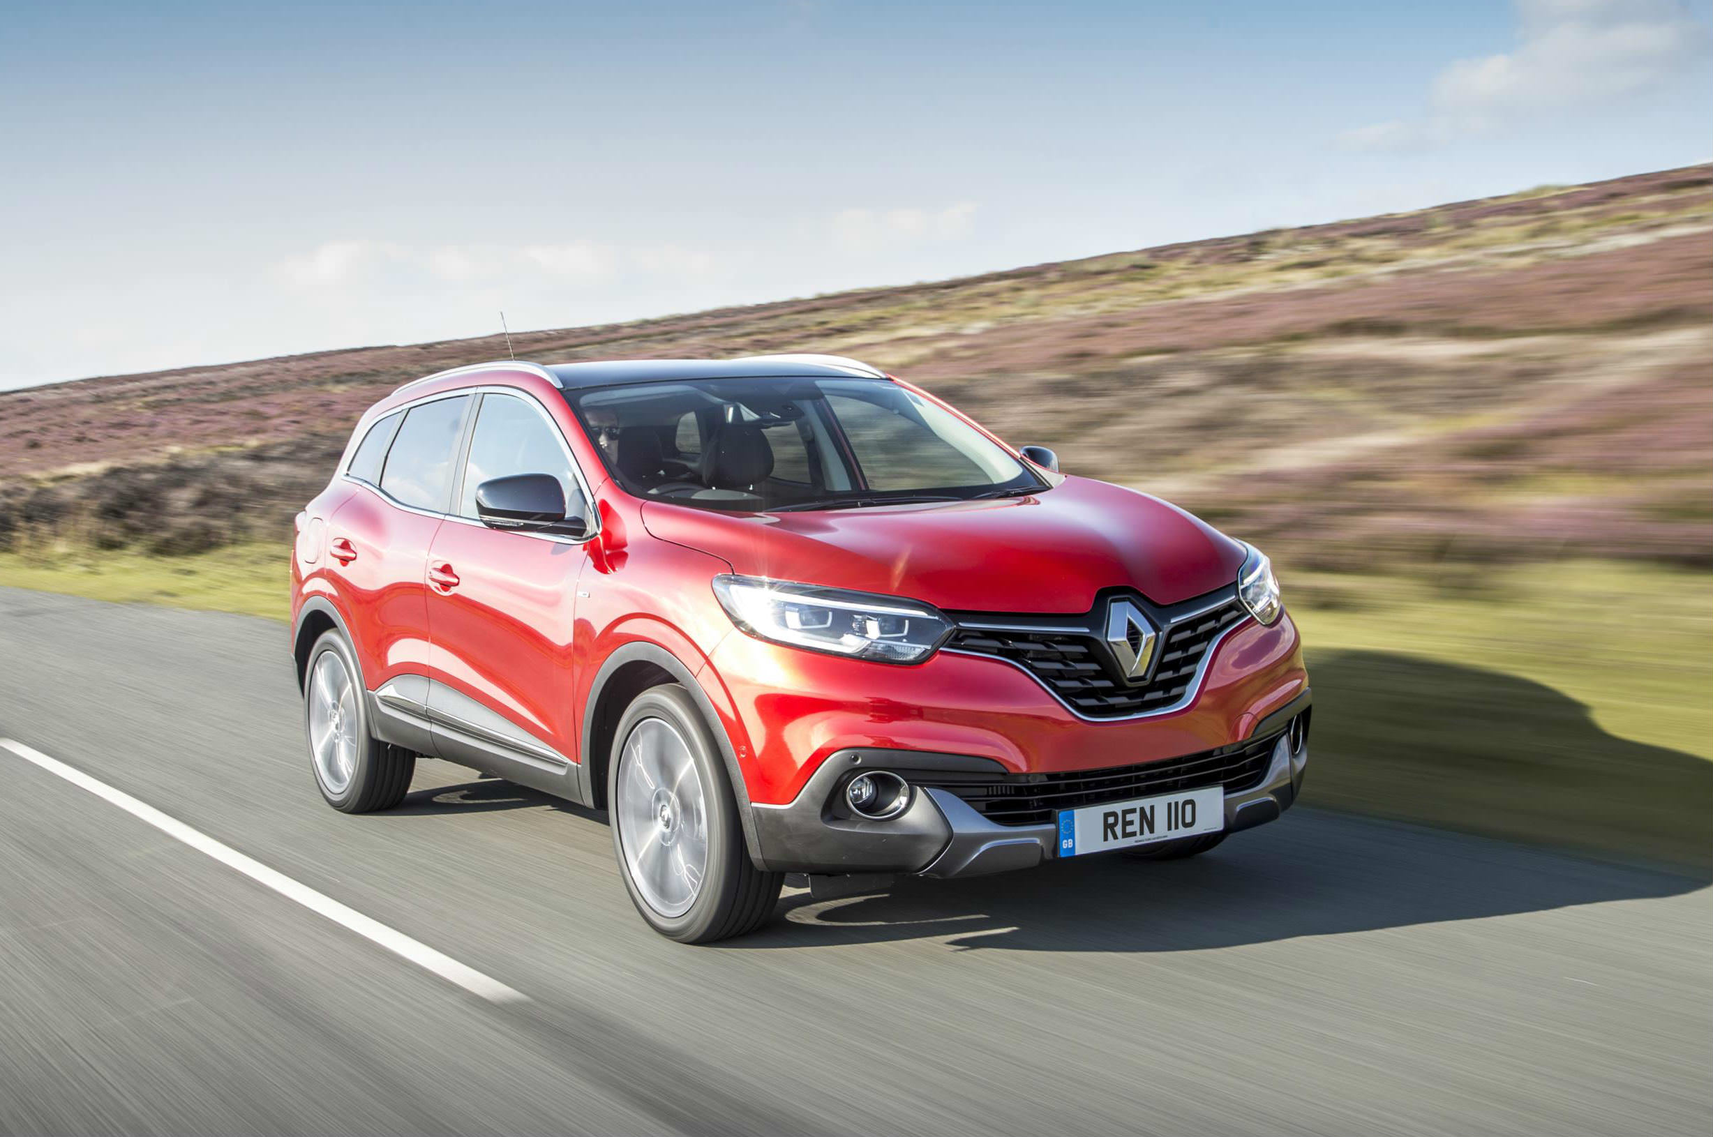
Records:
[[[1345,130],[1350,149],[1400,149],[1501,128],[1528,115],[1610,104],[1708,57],[1713,36],[1677,0],[1516,0],[1514,51],[1456,60],[1432,113]]]

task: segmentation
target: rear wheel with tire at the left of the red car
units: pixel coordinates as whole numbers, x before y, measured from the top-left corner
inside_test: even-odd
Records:
[[[416,755],[370,733],[363,671],[339,632],[324,632],[310,647],[303,671],[303,733],[315,788],[332,808],[343,813],[391,810],[409,791]]]

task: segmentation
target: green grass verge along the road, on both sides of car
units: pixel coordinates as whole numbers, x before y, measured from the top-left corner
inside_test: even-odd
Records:
[[[286,616],[286,553],[0,555],[0,584]],[[1285,580],[1316,690],[1305,803],[1598,854],[1713,863],[1713,606],[1698,574],[1494,568],[1478,596]]]

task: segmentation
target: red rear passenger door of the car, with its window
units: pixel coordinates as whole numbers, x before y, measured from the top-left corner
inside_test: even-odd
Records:
[[[365,438],[346,471],[361,490],[327,524],[329,572],[343,592],[363,685],[377,692],[387,738],[425,752],[420,717],[394,723],[385,707],[420,711],[427,699],[428,548],[452,503],[471,404],[468,394],[451,396],[380,420],[370,437],[384,455],[368,452]]]

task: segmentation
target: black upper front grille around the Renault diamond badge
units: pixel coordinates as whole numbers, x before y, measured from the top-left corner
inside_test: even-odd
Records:
[[[952,651],[1009,659],[1071,709],[1089,717],[1110,719],[1175,705],[1189,694],[1213,640],[1242,618],[1244,604],[1233,596],[1216,608],[1167,625],[1160,634],[1156,649],[1160,658],[1155,661],[1153,676],[1134,687],[1120,675],[1093,630],[959,628],[946,646]]]

